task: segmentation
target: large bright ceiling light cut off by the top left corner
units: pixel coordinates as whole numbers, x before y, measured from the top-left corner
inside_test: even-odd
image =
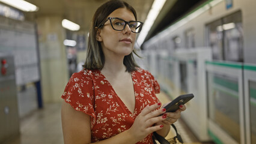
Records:
[[[23,0],[0,0],[0,2],[4,2],[22,11],[37,11],[39,9],[37,6]]]

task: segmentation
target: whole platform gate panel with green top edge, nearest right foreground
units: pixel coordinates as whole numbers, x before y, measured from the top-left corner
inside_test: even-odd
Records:
[[[209,136],[215,142],[245,143],[243,70],[239,62],[207,62]]]

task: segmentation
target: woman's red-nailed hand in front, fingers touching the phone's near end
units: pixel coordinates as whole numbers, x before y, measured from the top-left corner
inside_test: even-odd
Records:
[[[127,130],[129,134],[132,135],[136,140],[142,140],[148,134],[153,133],[154,131],[160,130],[163,128],[163,125],[159,122],[166,119],[165,116],[159,116],[165,113],[165,109],[158,109],[161,106],[161,103],[153,104],[151,106],[146,106],[141,113],[136,117],[133,122],[132,127]],[[154,124],[160,125],[154,125]]]

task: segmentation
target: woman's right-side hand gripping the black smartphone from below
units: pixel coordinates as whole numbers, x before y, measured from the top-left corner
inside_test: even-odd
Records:
[[[164,104],[164,106],[166,106],[167,104]],[[164,119],[163,121],[157,122],[156,125],[162,125],[162,124],[166,124],[166,125],[171,125],[174,122],[176,122],[178,120],[178,118],[180,118],[180,113],[184,110],[186,110],[186,106],[185,105],[180,105],[179,106],[180,109],[176,110],[175,112],[166,112],[163,115],[166,116],[166,119]]]

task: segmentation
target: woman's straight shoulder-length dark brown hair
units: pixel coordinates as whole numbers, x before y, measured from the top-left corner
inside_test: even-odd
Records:
[[[96,31],[97,28],[105,22],[109,14],[118,8],[127,8],[132,11],[135,20],[137,20],[137,14],[135,9],[127,4],[127,2],[119,1],[119,0],[111,0],[101,5],[93,16],[93,21],[91,23],[91,29],[88,37],[88,45],[87,45],[87,58],[85,60],[85,64],[83,65],[85,69],[88,70],[102,70],[105,64],[105,56],[102,51],[102,46],[100,42],[96,40]],[[138,54],[133,49],[133,53],[138,56]],[[141,58],[139,56],[139,58]],[[133,54],[130,53],[127,56],[124,56],[124,65],[126,66],[126,71],[135,71],[136,67],[139,67],[135,59],[133,58]]]

